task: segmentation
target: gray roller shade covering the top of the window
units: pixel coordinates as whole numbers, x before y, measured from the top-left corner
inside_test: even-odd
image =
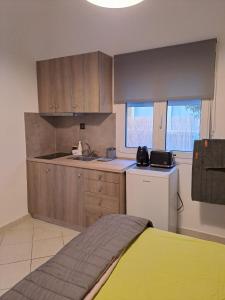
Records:
[[[114,57],[115,103],[213,99],[216,39]]]

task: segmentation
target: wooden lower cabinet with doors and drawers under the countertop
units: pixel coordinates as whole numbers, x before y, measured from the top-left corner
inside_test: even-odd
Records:
[[[28,210],[82,230],[106,214],[125,213],[125,174],[27,162]]]

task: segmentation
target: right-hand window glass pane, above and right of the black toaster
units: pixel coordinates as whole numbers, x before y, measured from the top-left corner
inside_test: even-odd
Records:
[[[193,151],[200,138],[201,100],[168,101],[166,149]]]

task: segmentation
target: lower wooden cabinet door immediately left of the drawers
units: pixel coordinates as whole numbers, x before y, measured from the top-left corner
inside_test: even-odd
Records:
[[[54,218],[82,226],[82,173],[77,168],[56,166]]]

